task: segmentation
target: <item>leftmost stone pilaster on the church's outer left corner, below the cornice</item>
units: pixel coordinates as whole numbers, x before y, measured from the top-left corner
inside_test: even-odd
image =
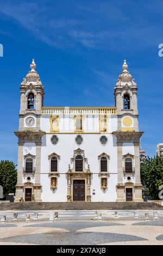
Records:
[[[20,202],[23,197],[23,145],[24,141],[18,139],[18,158],[17,158],[17,184],[16,184],[16,198],[15,202]]]

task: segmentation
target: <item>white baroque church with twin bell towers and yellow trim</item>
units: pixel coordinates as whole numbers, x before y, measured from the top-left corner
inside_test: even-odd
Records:
[[[137,84],[126,60],[115,107],[45,107],[33,59],[20,87],[15,202],[142,202]]]

